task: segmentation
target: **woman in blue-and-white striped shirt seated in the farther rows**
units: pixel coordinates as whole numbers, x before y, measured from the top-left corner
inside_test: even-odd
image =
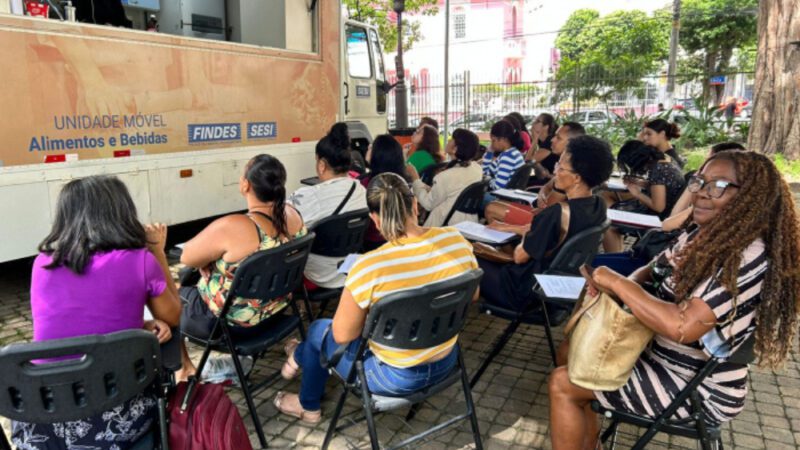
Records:
[[[507,120],[492,125],[489,132],[491,151],[483,156],[483,174],[492,179],[489,183],[490,190],[506,187],[511,175],[525,163],[518,150],[523,145],[519,133]]]

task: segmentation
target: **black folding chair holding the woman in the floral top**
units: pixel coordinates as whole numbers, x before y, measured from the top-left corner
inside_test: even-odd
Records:
[[[248,337],[231,336],[231,325],[225,319],[231,309],[233,300],[237,297],[248,299],[271,300],[278,297],[291,295],[303,283],[303,269],[311,251],[311,244],[314,242],[314,233],[295,239],[286,244],[280,245],[269,250],[262,250],[247,257],[234,274],[231,288],[225,299],[225,304],[220,310],[214,327],[208,338],[192,336],[184,333],[190,341],[204,345],[205,350],[197,366],[197,376],[203,373],[208,355],[211,350],[217,350],[231,354],[233,365],[236,368],[236,376],[239,380],[244,398],[247,401],[247,408],[253,419],[256,433],[261,447],[267,446],[264,437],[264,430],[258,419],[255,403],[253,402],[253,392],[274,381],[280,371],[272,374],[258,384],[251,385],[249,374],[245,374],[238,356],[250,356],[253,358],[253,366],[264,353],[273,345],[281,342],[290,336],[295,330],[305,339],[303,321],[300,319],[300,312],[294,298],[289,305],[292,310],[290,314],[282,313],[277,317],[271,318],[262,324],[255,325],[252,333]],[[189,379],[189,386],[186,389],[181,404],[181,409],[187,408],[188,399],[197,383],[197,377]]]

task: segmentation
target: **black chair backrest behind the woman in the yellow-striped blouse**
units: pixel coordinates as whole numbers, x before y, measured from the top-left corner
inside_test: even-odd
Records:
[[[464,327],[483,271],[389,294],[370,307],[362,336],[376,344],[417,350],[443,344]]]

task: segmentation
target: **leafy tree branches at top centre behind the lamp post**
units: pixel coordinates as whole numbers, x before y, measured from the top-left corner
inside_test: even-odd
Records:
[[[393,0],[342,0],[350,17],[378,28],[383,49],[387,52],[397,49],[397,18],[392,9]],[[403,13],[403,49],[410,49],[422,39],[419,22],[409,19],[412,14],[436,15],[439,8],[437,0],[406,0]]]

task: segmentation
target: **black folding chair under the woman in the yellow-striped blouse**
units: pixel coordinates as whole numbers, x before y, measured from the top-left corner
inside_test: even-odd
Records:
[[[364,372],[364,358],[367,354],[368,341],[376,344],[399,349],[423,349],[440,345],[461,332],[467,319],[469,305],[475,290],[478,288],[481,270],[473,270],[456,278],[429,284],[416,289],[387,295],[370,308],[361,333],[361,344],[356,353],[356,359],[349,373],[341,374],[335,369],[329,369],[343,383],[344,389],[325,435],[322,448],[327,449],[333,434],[341,431],[346,426],[337,428],[336,423],[344,408],[348,394],[353,394],[361,399],[361,409],[367,421],[372,448],[380,448],[378,432],[375,427],[374,414],[391,411],[397,408],[411,407],[408,418],[415,413],[415,405],[427,398],[442,392],[444,389],[460,381],[467,411],[443,423],[435,425],[428,430],[405,439],[394,445],[393,449],[406,447],[423,439],[432,433],[439,432],[461,420],[470,420],[472,435],[478,450],[483,448],[480,432],[478,430],[478,416],[472,401],[469,388],[464,358],[459,346],[453,351],[458,352],[458,364],[453,371],[439,383],[424,388],[413,394],[399,397],[374,395],[367,386],[366,373]],[[339,354],[341,357],[341,353]],[[336,367],[337,358],[328,362],[328,367]],[[357,412],[356,410],[355,412]],[[362,420],[363,420],[362,419]]]

